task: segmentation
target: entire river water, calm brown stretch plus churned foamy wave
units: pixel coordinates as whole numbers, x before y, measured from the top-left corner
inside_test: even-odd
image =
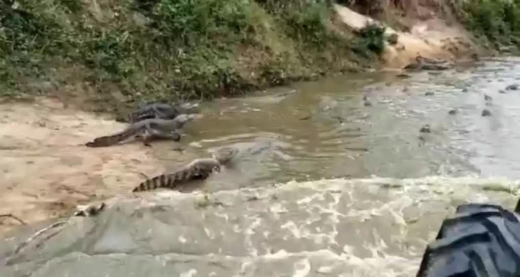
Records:
[[[501,58],[207,103],[187,127],[188,148],[241,150],[206,184],[218,205],[196,209],[194,194],[172,204],[167,192],[154,196],[162,210],[121,204],[88,246],[53,238],[66,250],[37,255],[63,258],[32,276],[413,276],[457,205],[515,205],[520,90],[499,91],[520,80],[517,69],[520,59]],[[419,132],[425,124],[430,133]],[[161,147],[165,162],[175,159]]]

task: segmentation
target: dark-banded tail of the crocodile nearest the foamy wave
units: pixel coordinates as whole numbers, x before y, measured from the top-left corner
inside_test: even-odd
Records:
[[[196,179],[201,180],[207,177],[209,177],[208,173],[188,168],[177,171],[175,173],[161,174],[159,176],[147,179],[145,182],[142,182],[137,187],[135,187],[132,192],[149,191],[158,188],[176,189],[180,185],[186,184],[189,181]]]

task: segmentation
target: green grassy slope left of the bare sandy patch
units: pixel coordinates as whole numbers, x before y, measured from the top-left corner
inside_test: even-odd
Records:
[[[353,70],[382,32],[334,28],[327,0],[19,0],[0,4],[0,94],[134,101],[240,95]]]

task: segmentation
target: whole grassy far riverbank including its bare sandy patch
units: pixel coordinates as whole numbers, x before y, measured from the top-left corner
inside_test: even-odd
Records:
[[[411,45],[459,59],[519,43],[515,4],[340,2],[344,6],[326,0],[2,4],[1,95],[45,95],[65,106],[116,112],[135,101],[236,96],[322,75],[400,67],[420,52]],[[345,11],[386,28],[349,22]],[[453,30],[471,32],[448,35],[465,41],[461,55],[457,45],[446,46]]]

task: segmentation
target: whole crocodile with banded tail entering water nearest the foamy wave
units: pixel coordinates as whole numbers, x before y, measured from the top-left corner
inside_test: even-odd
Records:
[[[178,189],[192,181],[202,181],[207,179],[210,174],[220,172],[222,167],[227,165],[237,152],[236,148],[221,148],[214,152],[211,158],[195,159],[173,173],[149,178],[136,186],[132,192],[150,191],[158,188]]]

